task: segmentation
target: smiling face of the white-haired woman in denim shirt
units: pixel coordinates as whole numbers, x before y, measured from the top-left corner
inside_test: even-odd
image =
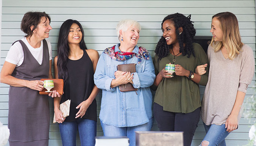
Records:
[[[136,46],[140,38],[140,30],[136,27],[128,27],[127,31],[122,33],[123,41],[121,43],[128,44],[129,46]]]

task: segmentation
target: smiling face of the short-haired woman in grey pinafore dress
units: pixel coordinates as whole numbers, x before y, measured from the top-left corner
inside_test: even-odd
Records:
[[[52,29],[50,21],[46,17],[41,18],[40,24],[37,25],[37,28],[34,29],[34,34],[41,38],[42,40],[49,37],[49,31]]]

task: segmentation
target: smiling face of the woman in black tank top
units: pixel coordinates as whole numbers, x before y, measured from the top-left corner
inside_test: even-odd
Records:
[[[82,40],[82,31],[79,25],[73,23],[68,33],[68,44],[79,44]]]

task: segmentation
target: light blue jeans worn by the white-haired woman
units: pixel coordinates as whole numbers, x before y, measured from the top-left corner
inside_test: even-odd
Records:
[[[150,131],[153,125],[153,118],[149,119],[149,122],[145,124],[132,127],[116,127],[107,125],[101,120],[100,124],[103,129],[104,136],[127,136],[129,138],[129,146],[135,146],[135,131]]]

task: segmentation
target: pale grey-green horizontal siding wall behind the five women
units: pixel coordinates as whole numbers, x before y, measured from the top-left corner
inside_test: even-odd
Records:
[[[52,44],[52,56],[57,55],[58,33],[61,24],[67,19],[78,20],[85,31],[85,43],[89,49],[95,49],[100,54],[109,46],[118,43],[115,27],[121,19],[134,19],[141,24],[138,46],[144,46],[151,56],[159,38],[162,35],[162,19],[171,13],[191,14],[194,21],[196,35],[211,36],[211,16],[219,12],[232,12],[239,21],[240,33],[244,43],[253,49],[255,56],[255,0],[3,0],[1,21],[1,52],[0,70],[3,66],[7,52],[11,44],[24,36],[20,30],[20,21],[24,13],[28,11],[45,11],[51,15],[50,36],[48,40]],[[255,94],[253,86],[256,84],[255,75],[252,84],[249,85],[246,98]],[[201,96],[205,87],[200,86]],[[9,86],[0,84],[0,121],[7,125],[8,117],[8,91]],[[97,96],[97,110],[100,111],[101,92]],[[49,98],[51,123],[53,119],[53,100]],[[244,111],[250,111],[248,106],[252,101],[244,101]],[[228,146],[242,146],[248,143],[248,131],[253,124],[256,114],[249,121],[242,117],[239,129],[226,138]],[[156,122],[152,130],[157,131]],[[78,133],[77,133],[78,134]],[[50,125],[49,146],[61,145],[60,132],[57,124]],[[97,136],[102,136],[100,121],[97,122]],[[205,130],[200,120],[192,146],[197,146],[204,138]],[[77,143],[79,137],[77,137]],[[8,144],[6,145],[8,146]]]

